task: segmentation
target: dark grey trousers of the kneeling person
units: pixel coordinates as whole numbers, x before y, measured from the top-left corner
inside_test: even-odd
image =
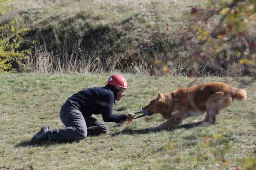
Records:
[[[62,105],[59,116],[66,127],[50,129],[48,132],[49,141],[75,141],[84,139],[87,135],[98,135],[108,132],[108,127],[105,123],[91,116],[84,117],[70,101],[66,101]]]

